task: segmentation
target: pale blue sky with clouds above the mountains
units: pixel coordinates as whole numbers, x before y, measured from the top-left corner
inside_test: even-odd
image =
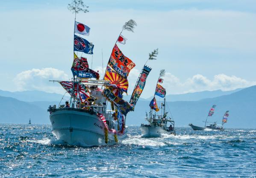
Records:
[[[74,14],[71,0],[2,0],[0,2],[0,90],[42,90],[64,94],[58,83],[71,79]],[[132,93],[148,54],[159,48],[141,95],[153,95],[159,71],[165,69],[167,94],[233,90],[256,85],[255,0],[88,0],[89,12],[77,21],[91,28],[84,38],[94,44],[89,67],[106,69],[110,53],[129,19],[134,33],[124,31],[118,44],[136,66]],[[102,55],[103,52],[103,55]],[[103,58],[103,69],[102,69]]]

